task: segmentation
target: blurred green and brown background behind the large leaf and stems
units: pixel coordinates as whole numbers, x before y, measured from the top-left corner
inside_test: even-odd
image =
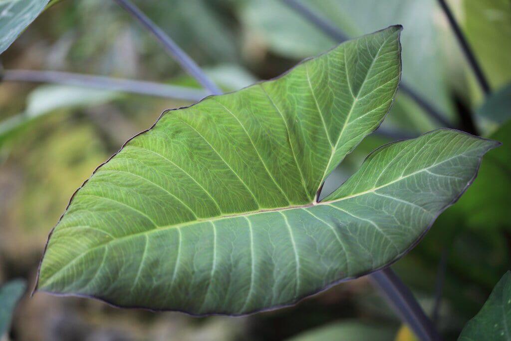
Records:
[[[7,3],[8,0],[0,0]],[[76,72],[165,84],[199,85],[117,4],[55,1],[0,56],[5,70]],[[135,2],[225,91],[275,77],[337,43],[277,0]],[[404,26],[402,82],[445,120],[476,115],[483,137],[504,143],[478,179],[393,265],[446,339],[455,339],[509,269],[511,226],[511,3],[452,0],[492,87],[485,96],[434,0],[303,0],[346,37]],[[0,283],[32,286],[45,240],[73,192],[132,135],[179,99],[26,82],[0,83]],[[500,125],[502,124],[502,125]],[[328,179],[338,187],[378,146],[443,126],[400,92],[383,129]],[[376,335],[376,336],[375,336]],[[0,335],[0,338],[2,336]],[[120,310],[37,293],[22,299],[10,340],[412,340],[367,278],[341,283],[294,307],[246,317],[191,317]]]

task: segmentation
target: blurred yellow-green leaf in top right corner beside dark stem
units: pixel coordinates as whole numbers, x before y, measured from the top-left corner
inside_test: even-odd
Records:
[[[511,2],[464,0],[464,29],[493,88],[511,81]]]

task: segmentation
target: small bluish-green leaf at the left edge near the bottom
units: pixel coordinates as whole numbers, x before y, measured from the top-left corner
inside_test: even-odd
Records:
[[[14,308],[26,289],[24,280],[14,280],[0,286],[0,338],[9,331]]]

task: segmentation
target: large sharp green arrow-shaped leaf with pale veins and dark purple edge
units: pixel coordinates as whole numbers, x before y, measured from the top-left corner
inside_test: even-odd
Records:
[[[390,107],[400,31],[165,112],[75,193],[49,238],[37,289],[243,314],[401,257],[471,183],[495,142],[444,129],[387,145],[316,200]]]

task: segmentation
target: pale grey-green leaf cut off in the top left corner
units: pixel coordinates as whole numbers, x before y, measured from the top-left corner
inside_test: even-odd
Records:
[[[0,0],[0,53],[41,13],[49,0]]]

